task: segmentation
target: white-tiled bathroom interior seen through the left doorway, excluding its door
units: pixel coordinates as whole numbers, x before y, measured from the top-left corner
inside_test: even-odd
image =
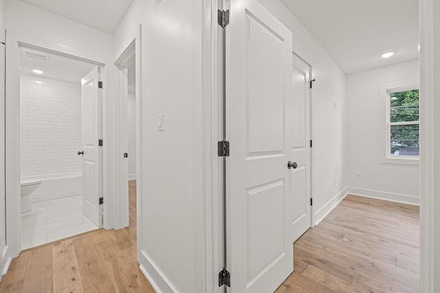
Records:
[[[21,250],[98,228],[83,214],[81,79],[91,71],[96,64],[19,45]]]

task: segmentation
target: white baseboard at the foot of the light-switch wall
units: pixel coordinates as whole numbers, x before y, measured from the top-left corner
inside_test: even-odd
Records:
[[[140,270],[144,273],[146,279],[151,283],[157,293],[176,293],[177,289],[170,283],[164,273],[159,270],[155,263],[146,255],[145,251],[141,251]]]

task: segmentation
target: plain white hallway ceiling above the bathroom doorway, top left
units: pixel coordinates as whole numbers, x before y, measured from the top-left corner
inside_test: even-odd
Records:
[[[133,0],[21,0],[113,34]]]

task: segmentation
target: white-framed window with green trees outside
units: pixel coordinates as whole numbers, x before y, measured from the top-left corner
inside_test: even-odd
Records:
[[[382,163],[419,164],[419,86],[408,84],[380,87]]]

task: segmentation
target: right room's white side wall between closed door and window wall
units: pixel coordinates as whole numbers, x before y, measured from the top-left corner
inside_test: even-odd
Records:
[[[316,79],[311,93],[312,195],[316,223],[346,195],[345,74],[282,3],[259,2],[293,32],[294,51],[311,64]]]

